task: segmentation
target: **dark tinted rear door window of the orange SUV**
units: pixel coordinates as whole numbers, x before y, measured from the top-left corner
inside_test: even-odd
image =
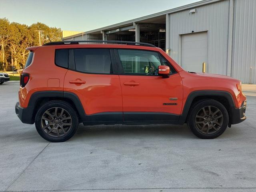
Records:
[[[74,49],[74,60],[79,72],[113,73],[109,49]]]

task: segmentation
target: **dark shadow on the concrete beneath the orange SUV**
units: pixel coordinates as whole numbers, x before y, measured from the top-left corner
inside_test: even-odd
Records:
[[[15,125],[17,126],[17,125]],[[216,139],[235,139],[240,138],[244,132],[243,128],[236,128],[238,125],[232,125],[227,128],[224,134]],[[241,125],[240,125],[241,126]],[[31,126],[21,126],[19,131],[6,135],[12,140],[26,140],[27,142],[48,142],[44,140],[36,131],[36,128]],[[202,140],[192,134],[186,124],[184,125],[97,125],[84,126],[79,125],[77,133],[66,142],[86,142],[86,140],[119,140],[122,139],[172,139],[172,140]]]

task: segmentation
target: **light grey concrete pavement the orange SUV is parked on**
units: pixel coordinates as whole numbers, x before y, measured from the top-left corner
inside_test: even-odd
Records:
[[[213,140],[186,125],[80,125],[64,143],[20,122],[18,88],[0,85],[0,191],[256,191],[255,86],[244,86],[247,120]]]

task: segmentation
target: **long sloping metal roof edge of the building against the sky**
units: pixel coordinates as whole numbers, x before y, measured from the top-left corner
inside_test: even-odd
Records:
[[[72,35],[72,36],[67,36],[65,38],[62,38],[62,40],[72,38],[72,37],[82,36],[83,34],[84,35],[85,34],[92,34],[92,33],[95,33],[95,32],[100,32],[100,31],[105,31],[105,30],[111,30],[111,29],[118,28],[118,27],[128,26],[128,25],[133,24],[134,22],[135,23],[136,22],[141,22],[143,20],[147,20],[147,19],[150,19],[150,18],[164,16],[166,14],[171,14],[171,13],[174,13],[174,12],[179,12],[179,11],[190,9],[190,8],[195,8],[195,7],[198,7],[198,6],[202,6],[202,5],[205,5],[205,4],[210,4],[210,3],[214,3],[214,2],[218,2],[218,1],[222,1],[222,0],[202,0],[202,1],[198,1],[198,2],[194,2],[194,3],[191,3],[191,4],[184,5],[184,6],[180,6],[180,7],[177,7],[177,8],[172,8],[172,9],[165,10],[165,11],[162,11],[162,12],[150,14],[150,15],[143,16],[143,17],[139,17],[139,18],[136,18],[136,19],[132,19],[132,20],[120,22],[120,23],[117,23],[117,24],[109,25],[109,26],[106,26],[106,27],[102,27],[102,28],[82,32],[82,33],[75,34],[75,35]]]

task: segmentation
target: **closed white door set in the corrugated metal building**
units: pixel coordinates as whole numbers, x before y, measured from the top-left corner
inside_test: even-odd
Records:
[[[203,62],[207,67],[207,52],[207,32],[181,36],[181,66],[184,70],[202,73]]]

